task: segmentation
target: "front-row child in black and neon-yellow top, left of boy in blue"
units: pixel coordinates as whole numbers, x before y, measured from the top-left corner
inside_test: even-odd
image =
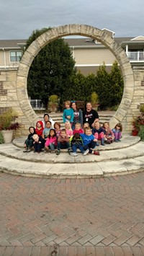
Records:
[[[80,136],[79,133],[75,133],[73,136],[70,138],[70,143],[71,143],[71,156],[77,156],[78,154],[76,153],[77,149],[80,149],[81,153],[84,154],[84,148],[83,148],[83,140]]]

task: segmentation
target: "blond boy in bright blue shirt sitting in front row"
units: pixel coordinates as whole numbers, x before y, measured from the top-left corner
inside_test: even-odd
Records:
[[[84,133],[80,134],[82,140],[83,140],[83,144],[84,144],[84,150],[86,150],[84,152],[84,156],[86,154],[95,154],[95,155],[99,155],[99,151],[94,151],[93,149],[96,146],[96,138],[94,137],[93,134],[91,134],[91,128],[87,127],[84,129]]]

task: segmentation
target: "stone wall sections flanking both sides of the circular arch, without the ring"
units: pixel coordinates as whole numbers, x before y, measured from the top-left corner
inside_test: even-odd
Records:
[[[110,121],[111,126],[115,123],[121,122],[124,131],[130,132],[132,129],[132,119],[140,115],[140,105],[144,104],[144,66],[132,68],[134,74],[134,92],[129,90],[129,94],[132,97],[132,102],[130,104],[130,109],[127,114],[122,119],[121,112],[118,112],[114,118]],[[35,125],[37,116],[35,116],[35,122],[30,122],[24,116],[24,112],[19,105],[19,100],[17,98],[17,69],[4,69],[0,71],[0,114],[12,107],[17,112],[16,120],[22,123],[22,130],[18,134],[27,134],[27,129],[30,125]],[[124,89],[125,104],[127,101],[127,90]],[[26,107],[26,106],[24,106]]]

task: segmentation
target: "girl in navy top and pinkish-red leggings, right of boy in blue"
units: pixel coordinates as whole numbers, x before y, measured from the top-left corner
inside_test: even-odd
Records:
[[[94,127],[92,128],[92,134],[94,134],[94,137],[96,140],[101,140],[101,145],[105,146],[104,144],[104,128],[101,127],[99,121],[94,122]],[[99,144],[96,142],[96,146],[99,146]]]

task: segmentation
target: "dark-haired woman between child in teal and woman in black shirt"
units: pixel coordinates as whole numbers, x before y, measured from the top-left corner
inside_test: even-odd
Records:
[[[72,130],[74,130],[76,123],[81,123],[81,128],[83,127],[83,112],[81,109],[78,109],[76,102],[71,103],[73,109],[73,123],[71,125]]]

